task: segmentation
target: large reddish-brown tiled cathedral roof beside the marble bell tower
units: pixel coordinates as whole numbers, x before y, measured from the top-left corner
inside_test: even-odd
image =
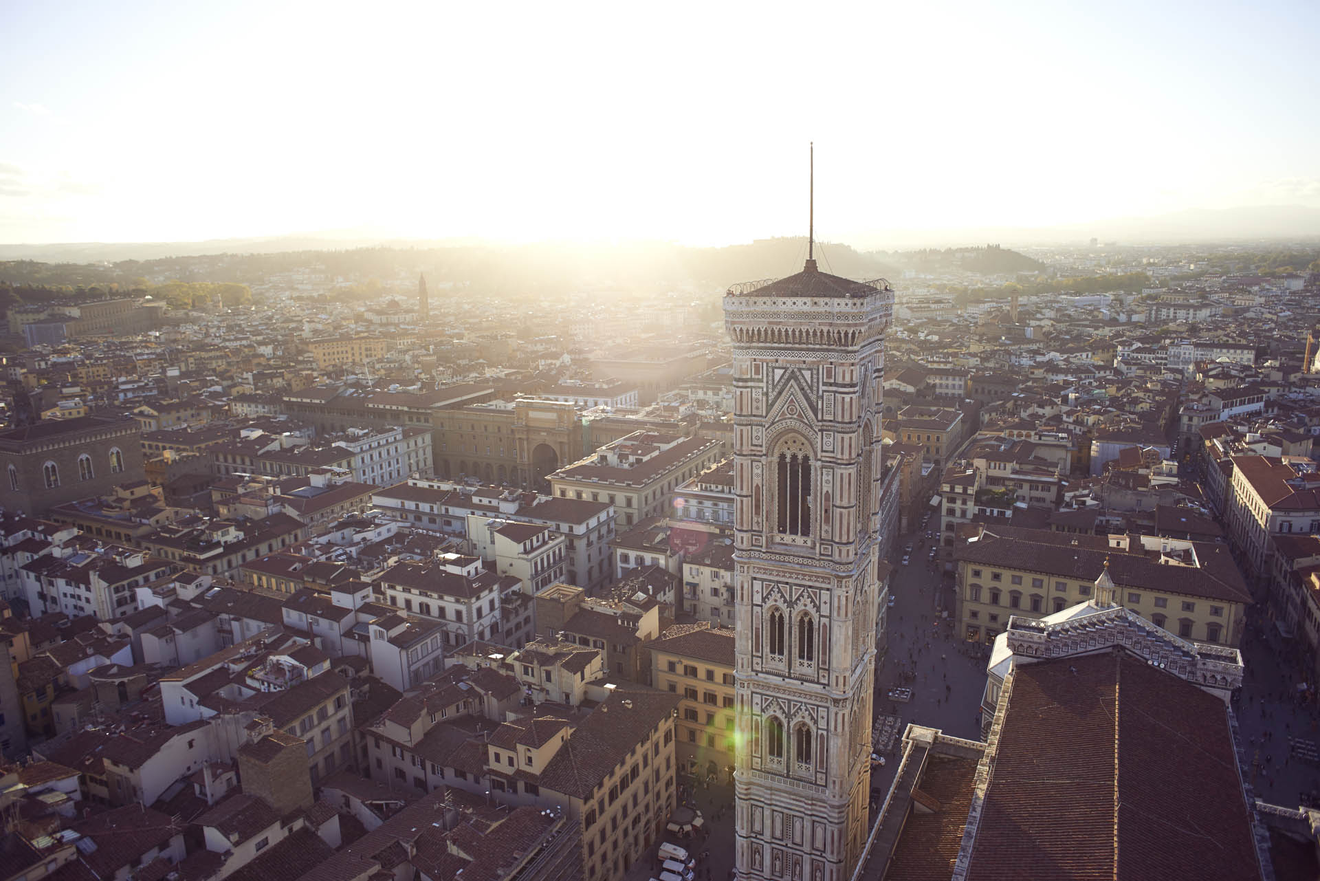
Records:
[[[1261,878],[1228,707],[1125,650],[1018,666],[969,881]]]

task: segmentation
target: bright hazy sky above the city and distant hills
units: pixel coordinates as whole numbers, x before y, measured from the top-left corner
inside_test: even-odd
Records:
[[[0,243],[1320,207],[1313,0],[5,0]]]

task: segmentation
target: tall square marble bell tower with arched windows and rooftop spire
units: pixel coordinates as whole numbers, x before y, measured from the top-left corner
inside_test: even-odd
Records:
[[[894,292],[821,272],[809,230],[801,272],[725,295],[739,881],[845,881],[867,833]]]

